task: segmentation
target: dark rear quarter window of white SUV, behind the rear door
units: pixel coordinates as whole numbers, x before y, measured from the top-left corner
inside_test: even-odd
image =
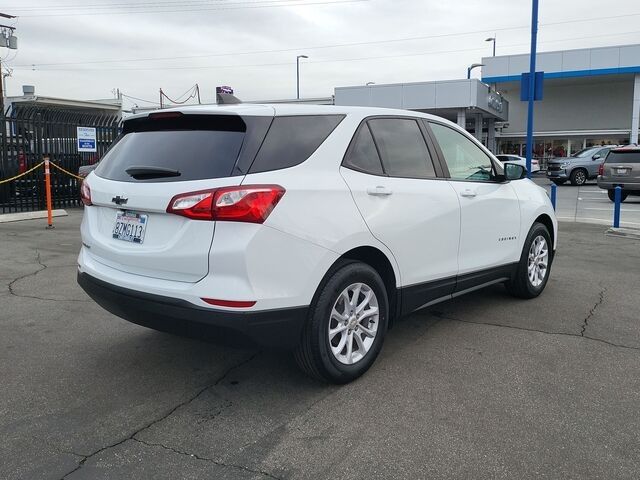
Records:
[[[275,117],[249,173],[301,164],[318,149],[343,118],[343,115]]]

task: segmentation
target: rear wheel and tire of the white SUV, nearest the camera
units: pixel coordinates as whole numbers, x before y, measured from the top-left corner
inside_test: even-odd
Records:
[[[357,290],[357,285],[360,285],[360,290]],[[347,292],[347,298],[353,300],[356,291],[358,301],[355,303],[360,302],[359,305],[364,304],[369,292],[373,294],[364,311],[371,310],[377,304],[377,314],[360,319],[353,315],[349,318],[341,316],[339,320],[332,314],[334,309],[342,314],[343,311],[349,312],[347,309],[351,308],[345,303],[343,293]],[[387,290],[378,272],[365,263],[345,261],[334,268],[318,287],[300,344],[294,351],[296,362],[307,375],[317,380],[337,384],[351,382],[366,372],[380,353],[388,318]],[[361,322],[366,322],[366,327]],[[363,327],[374,336],[365,334]],[[342,330],[334,333],[330,340],[330,328]],[[356,336],[360,338],[359,342]]]

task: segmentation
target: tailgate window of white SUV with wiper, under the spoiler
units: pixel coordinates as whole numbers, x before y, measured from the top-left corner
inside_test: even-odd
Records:
[[[110,180],[182,182],[231,175],[245,137],[241,117],[182,115],[142,118],[125,122],[123,135],[112,145],[96,169]],[[142,167],[151,174],[134,178]],[[176,174],[154,176],[153,169]]]

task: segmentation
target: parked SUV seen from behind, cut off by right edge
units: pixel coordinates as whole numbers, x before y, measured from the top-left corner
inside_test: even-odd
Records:
[[[615,201],[615,188],[622,187],[622,201],[629,195],[640,195],[640,147],[614,148],[600,168],[598,186]]]

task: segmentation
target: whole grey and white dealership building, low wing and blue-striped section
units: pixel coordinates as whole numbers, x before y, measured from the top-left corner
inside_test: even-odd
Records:
[[[520,78],[529,55],[482,59],[482,82],[454,80],[337,87],[336,105],[405,108],[444,116],[496,153],[525,155],[527,102]],[[640,45],[538,53],[543,99],[535,102],[534,156],[592,145],[638,143]]]

